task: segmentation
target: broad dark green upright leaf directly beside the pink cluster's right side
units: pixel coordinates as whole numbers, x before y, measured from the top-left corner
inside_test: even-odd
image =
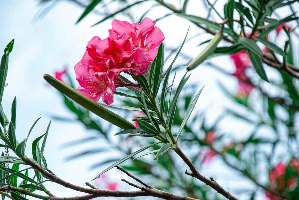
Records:
[[[155,63],[155,72],[154,72],[154,80],[153,80],[154,98],[157,96],[158,90],[160,88],[160,83],[163,76],[163,66],[164,66],[164,44],[162,42],[158,48],[158,53],[157,53],[156,63]]]

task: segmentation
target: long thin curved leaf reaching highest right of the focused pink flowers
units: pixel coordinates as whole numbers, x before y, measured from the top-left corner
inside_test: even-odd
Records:
[[[167,93],[167,85],[168,85],[168,80],[169,80],[169,75],[170,75],[170,71],[171,68],[173,66],[173,63],[176,61],[176,58],[179,56],[181,49],[183,48],[183,45],[186,41],[188,32],[189,32],[190,27],[187,30],[186,36],[184,38],[184,41],[178,51],[178,53],[176,54],[176,57],[174,57],[172,63],[170,64],[169,68],[167,69],[167,71],[165,72],[165,79],[164,79],[164,83],[163,83],[163,87],[162,87],[162,94],[161,94],[161,105],[160,105],[160,113],[163,115],[164,114],[164,109],[165,109],[165,100],[166,100],[166,93]]]

